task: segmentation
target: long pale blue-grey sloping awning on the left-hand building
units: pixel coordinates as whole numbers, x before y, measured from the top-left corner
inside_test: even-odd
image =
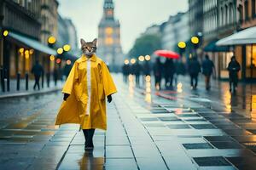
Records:
[[[37,40],[34,40],[30,37],[26,37],[26,36],[20,35],[18,33],[12,32],[12,31],[9,31],[8,36],[12,37],[16,41],[24,43],[26,46],[34,48],[42,53],[53,54],[53,55],[57,54],[56,50],[49,48],[48,46],[44,45],[42,42],[38,42]]]

